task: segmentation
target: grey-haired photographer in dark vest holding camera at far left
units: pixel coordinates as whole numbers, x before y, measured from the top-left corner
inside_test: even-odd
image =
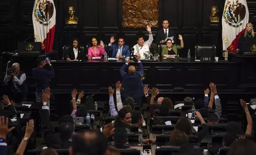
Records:
[[[11,99],[14,102],[23,102],[27,98],[27,82],[26,74],[20,70],[19,64],[12,64],[12,68],[8,69],[4,77],[4,83],[8,83],[12,89]]]

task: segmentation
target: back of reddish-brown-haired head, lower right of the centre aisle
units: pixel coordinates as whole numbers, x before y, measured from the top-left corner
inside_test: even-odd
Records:
[[[181,130],[174,130],[170,137],[170,146],[181,146],[182,144],[188,144],[188,135]]]

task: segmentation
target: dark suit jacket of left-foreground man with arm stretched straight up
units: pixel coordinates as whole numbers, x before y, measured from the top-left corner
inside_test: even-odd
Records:
[[[72,142],[69,140],[62,142],[59,134],[54,133],[54,128],[52,127],[50,122],[50,114],[48,109],[42,109],[41,123],[42,123],[41,127],[42,127],[43,137],[47,147],[50,147],[53,149],[69,149]]]

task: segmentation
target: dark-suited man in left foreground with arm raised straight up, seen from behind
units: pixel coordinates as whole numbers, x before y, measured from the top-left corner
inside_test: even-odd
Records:
[[[42,92],[42,102],[47,103],[48,100],[50,100],[50,88],[46,88],[45,91]],[[75,129],[74,121],[72,120],[60,123],[58,127],[59,133],[56,134],[54,133],[54,128],[51,125],[49,111],[50,107],[45,106],[44,104],[41,111],[41,127],[47,147],[53,149],[69,149],[72,145],[71,138]]]

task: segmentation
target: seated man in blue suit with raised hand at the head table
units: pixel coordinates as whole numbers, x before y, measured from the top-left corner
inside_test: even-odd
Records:
[[[111,37],[110,43],[107,46],[109,57],[111,58],[125,58],[130,57],[130,49],[128,45],[124,45],[124,38],[120,37],[118,39],[118,45],[114,43],[114,36]]]

